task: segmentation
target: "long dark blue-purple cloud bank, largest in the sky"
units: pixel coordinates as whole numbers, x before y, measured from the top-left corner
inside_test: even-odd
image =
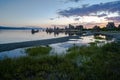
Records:
[[[90,16],[91,13],[97,14],[101,11],[105,13],[106,12],[107,13],[114,13],[114,12],[120,13],[120,1],[94,4],[94,5],[86,6],[86,7],[70,8],[67,10],[60,10],[58,14],[64,17]],[[105,16],[105,14],[101,16]]]

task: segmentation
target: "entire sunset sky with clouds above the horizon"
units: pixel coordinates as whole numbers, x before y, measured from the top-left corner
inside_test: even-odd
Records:
[[[120,24],[120,0],[0,0],[1,26]]]

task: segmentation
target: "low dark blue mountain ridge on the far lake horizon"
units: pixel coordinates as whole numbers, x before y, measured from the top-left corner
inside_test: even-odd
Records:
[[[6,26],[0,26],[0,29],[31,30],[31,29],[43,29],[43,28],[39,28],[39,27],[6,27]]]

